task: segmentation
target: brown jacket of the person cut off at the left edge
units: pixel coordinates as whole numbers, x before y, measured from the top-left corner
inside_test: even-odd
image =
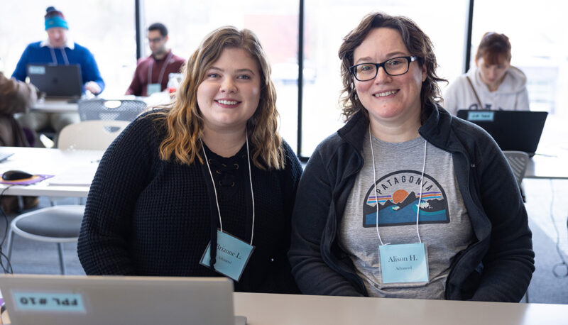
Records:
[[[28,140],[13,114],[27,113],[38,100],[38,89],[0,72],[0,145],[27,147]]]

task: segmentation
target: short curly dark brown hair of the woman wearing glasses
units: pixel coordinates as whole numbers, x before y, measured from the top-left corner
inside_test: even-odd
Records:
[[[339,59],[342,60],[342,97],[339,103],[342,105],[342,114],[346,120],[351,119],[356,112],[364,108],[361,101],[357,97],[355,84],[349,67],[353,65],[353,53],[355,49],[363,43],[368,33],[374,28],[392,28],[400,33],[403,43],[410,52],[410,55],[418,57],[418,65],[426,67],[426,79],[422,82],[420,89],[420,103],[422,104],[421,121],[425,120],[425,105],[435,105],[442,101],[442,96],[437,82],[447,82],[436,75],[436,55],[434,54],[434,45],[420,27],[416,25],[410,18],[404,16],[389,16],[386,13],[369,13],[366,15],[359,26],[349,32],[339,47]],[[366,109],[362,110],[368,119]]]

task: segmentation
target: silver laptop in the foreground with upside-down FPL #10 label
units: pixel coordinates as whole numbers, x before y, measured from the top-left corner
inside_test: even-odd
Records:
[[[246,324],[226,277],[0,275],[12,324]]]

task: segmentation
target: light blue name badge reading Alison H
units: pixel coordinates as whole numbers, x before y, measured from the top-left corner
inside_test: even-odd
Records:
[[[430,282],[424,243],[378,246],[383,283]]]

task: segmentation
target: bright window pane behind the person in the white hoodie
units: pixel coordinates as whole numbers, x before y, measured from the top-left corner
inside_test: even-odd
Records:
[[[511,65],[527,76],[531,111],[548,111],[540,153],[566,147],[568,122],[568,27],[564,1],[542,0],[537,6],[476,0],[471,35],[471,66],[481,36],[503,33],[511,43]],[[548,147],[548,148],[547,148]]]

